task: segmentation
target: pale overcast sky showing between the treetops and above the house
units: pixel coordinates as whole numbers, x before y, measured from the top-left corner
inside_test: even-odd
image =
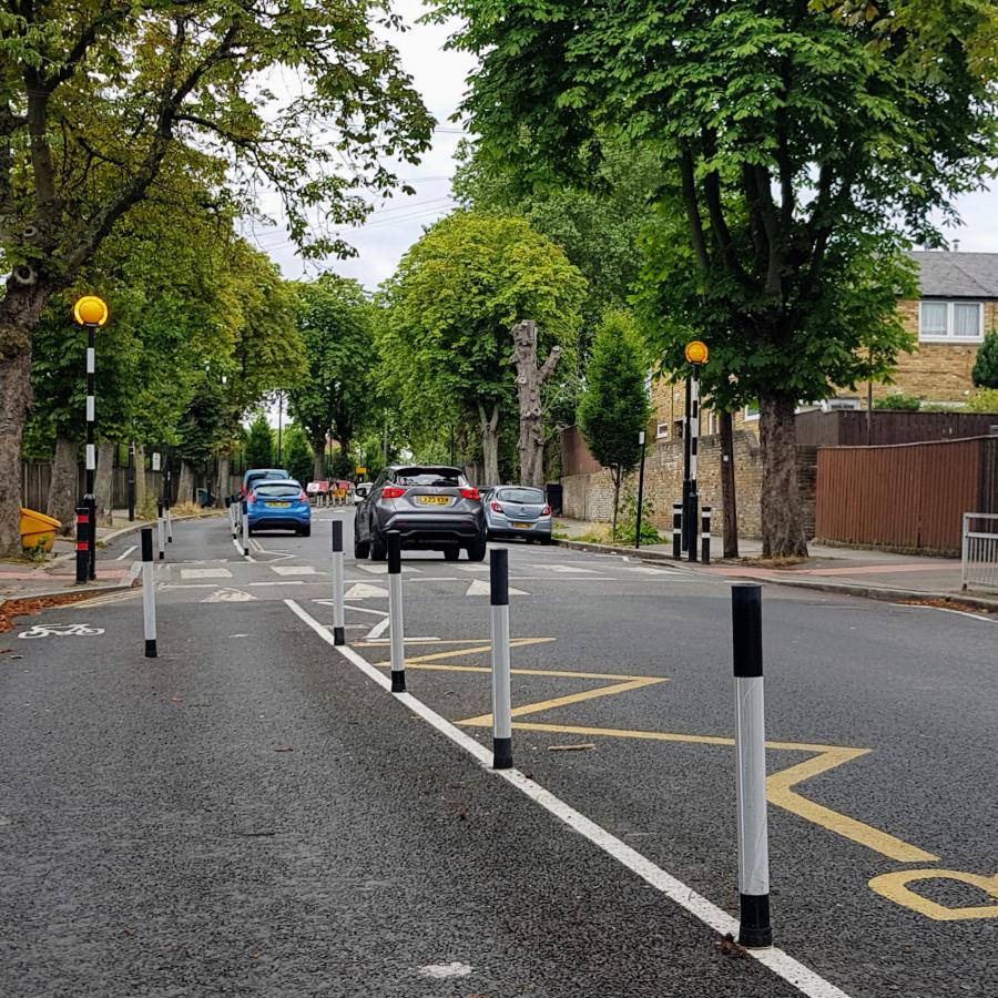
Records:
[[[454,154],[460,141],[460,126],[450,121],[465,91],[465,78],[473,65],[471,57],[444,51],[450,29],[417,24],[424,12],[421,0],[396,0],[395,9],[410,29],[394,37],[403,64],[415,81],[430,113],[437,120],[432,149],[418,166],[400,173],[415,189],[415,195],[398,195],[379,205],[360,227],[344,231],[359,256],[329,259],[307,266],[295,255],[286,233],[273,231],[258,235],[256,244],[281,265],[285,277],[297,278],[332,269],[356,277],[374,289],[395,271],[401,255],[421,235],[424,227],[446,215],[452,207],[450,179]],[[998,182],[994,184],[998,192]],[[959,240],[963,251],[998,253],[998,194],[980,193],[960,198],[958,207],[965,225],[947,235]]]

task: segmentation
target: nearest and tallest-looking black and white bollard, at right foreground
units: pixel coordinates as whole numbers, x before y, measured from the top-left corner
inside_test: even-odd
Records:
[[[762,587],[733,585],[739,902],[742,946],[772,946],[766,831],[766,733],[762,674]]]

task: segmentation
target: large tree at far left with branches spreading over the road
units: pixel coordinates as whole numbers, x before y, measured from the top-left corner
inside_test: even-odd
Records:
[[[429,142],[381,40],[397,26],[378,0],[0,4],[0,553],[19,547],[17,461],[48,301],[136,204],[169,197],[167,174],[257,216],[266,186],[305,252],[348,252],[334,227],[365,216],[359,192],[390,191],[384,164]]]

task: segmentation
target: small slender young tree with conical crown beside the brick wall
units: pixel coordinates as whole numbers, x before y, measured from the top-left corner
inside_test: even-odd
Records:
[[[612,533],[623,478],[638,467],[638,434],[648,425],[651,404],[644,379],[648,364],[634,319],[611,310],[603,317],[585,365],[585,389],[579,403],[579,428],[590,454],[610,469],[613,481]]]

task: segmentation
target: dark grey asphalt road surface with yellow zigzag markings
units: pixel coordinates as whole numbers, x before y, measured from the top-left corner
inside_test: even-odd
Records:
[[[176,525],[156,660],[138,593],[0,635],[0,994],[801,994],[294,612],[332,628],[334,517],[252,560]],[[404,568],[408,689],[489,745],[487,566]],[[379,669],[383,572],[348,553]],[[729,582],[512,544],[510,585],[519,770],[736,914]],[[854,998],[989,998],[998,624],[776,587],[763,615],[776,944]]]

